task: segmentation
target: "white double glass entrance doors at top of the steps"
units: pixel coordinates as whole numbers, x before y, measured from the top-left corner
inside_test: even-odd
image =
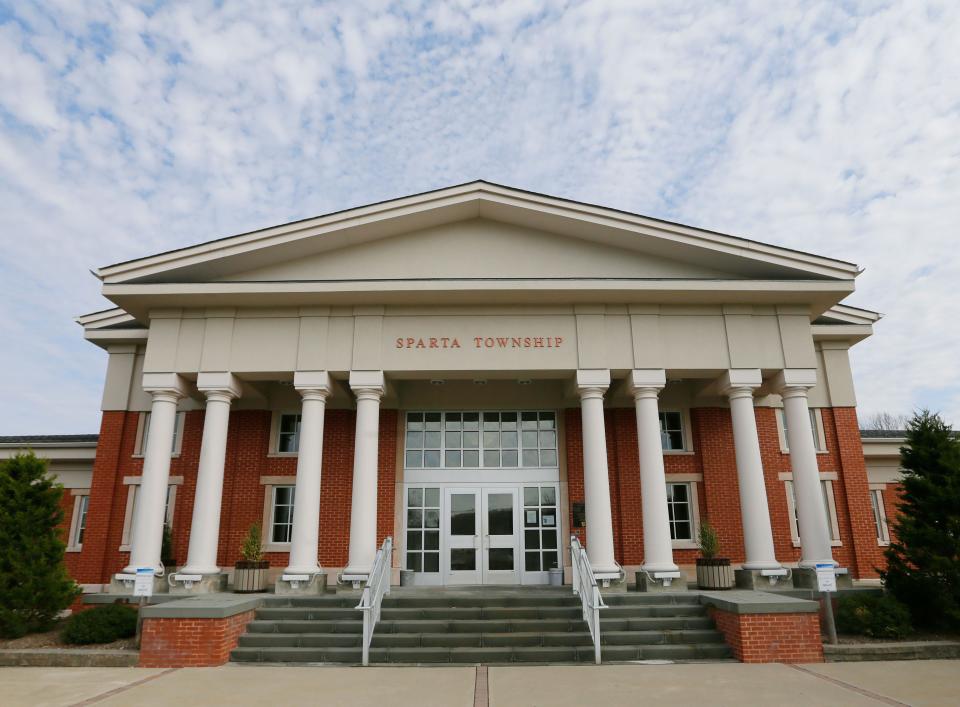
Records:
[[[518,584],[520,509],[516,488],[444,489],[444,584]]]

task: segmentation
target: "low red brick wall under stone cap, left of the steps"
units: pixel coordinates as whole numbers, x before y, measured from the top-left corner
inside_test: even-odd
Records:
[[[224,619],[144,619],[141,668],[223,665],[253,611]]]

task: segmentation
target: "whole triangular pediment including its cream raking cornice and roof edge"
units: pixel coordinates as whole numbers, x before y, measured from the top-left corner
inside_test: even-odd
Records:
[[[487,182],[98,271],[106,285],[438,277],[852,280],[809,253]]]

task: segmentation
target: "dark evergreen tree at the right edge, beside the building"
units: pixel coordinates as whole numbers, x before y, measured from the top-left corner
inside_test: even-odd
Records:
[[[914,415],[900,450],[896,540],[887,548],[887,589],[918,626],[960,629],[960,439],[939,415]]]

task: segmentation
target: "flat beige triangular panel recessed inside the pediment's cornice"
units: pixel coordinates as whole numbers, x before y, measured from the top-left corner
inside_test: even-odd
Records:
[[[740,277],[638,249],[477,218],[271,263],[220,281]]]

